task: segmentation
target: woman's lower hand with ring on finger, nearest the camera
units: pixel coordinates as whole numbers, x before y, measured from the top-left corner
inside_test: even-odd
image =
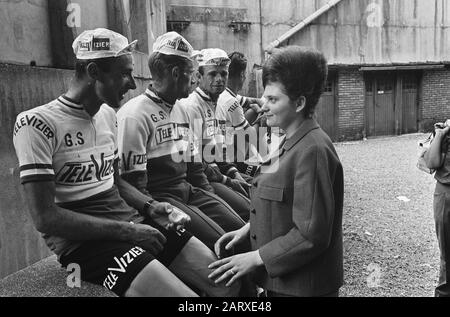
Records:
[[[230,258],[214,262],[209,269],[214,270],[208,278],[220,284],[228,280],[226,286],[229,287],[241,277],[253,272],[259,266],[264,265],[259,250],[238,254]]]

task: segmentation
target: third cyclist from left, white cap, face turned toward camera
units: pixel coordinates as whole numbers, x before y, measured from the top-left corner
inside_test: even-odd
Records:
[[[249,184],[239,174],[232,163],[222,155],[222,147],[227,140],[228,116],[223,107],[218,106],[219,96],[225,91],[228,80],[230,59],[221,49],[205,49],[197,58],[199,63],[199,87],[187,98],[181,100],[193,122],[199,121],[201,129],[196,131],[196,139],[203,145],[205,173],[216,194],[224,199],[245,220],[250,217]],[[230,107],[231,108],[231,107]],[[227,112],[227,111],[225,111]],[[237,111],[236,111],[237,112]],[[245,126],[242,114],[236,125]],[[230,124],[228,124],[230,125]],[[212,151],[209,148],[214,148]],[[210,153],[211,152],[211,153]]]

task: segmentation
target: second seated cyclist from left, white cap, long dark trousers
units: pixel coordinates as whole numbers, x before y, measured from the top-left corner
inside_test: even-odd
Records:
[[[176,32],[155,41],[149,60],[152,87],[117,114],[121,172],[141,192],[189,214],[186,228],[213,250],[224,231],[245,222],[211,193],[201,162],[189,162],[190,120],[177,100],[189,94],[192,55],[192,46]]]

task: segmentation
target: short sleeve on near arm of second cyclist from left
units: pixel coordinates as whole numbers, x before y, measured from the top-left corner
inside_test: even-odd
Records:
[[[147,142],[150,132],[133,117],[118,118],[120,172],[128,174],[147,170]]]

